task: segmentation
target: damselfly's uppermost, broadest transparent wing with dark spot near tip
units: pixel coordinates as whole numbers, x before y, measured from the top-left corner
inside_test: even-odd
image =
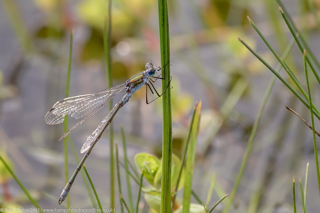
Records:
[[[46,113],[44,121],[47,124],[60,124],[63,122],[65,115],[71,115],[76,119],[88,116],[96,109],[101,109],[100,106],[108,103],[116,94],[125,91],[125,88],[125,84],[121,84],[96,94],[62,99]]]

